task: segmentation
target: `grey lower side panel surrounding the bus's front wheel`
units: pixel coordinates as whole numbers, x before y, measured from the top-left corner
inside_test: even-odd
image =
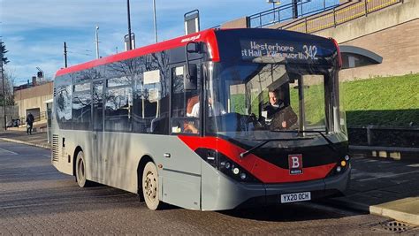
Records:
[[[105,185],[137,193],[138,164],[147,155],[157,166],[160,200],[201,208],[201,158],[176,136],[106,132],[103,140]]]

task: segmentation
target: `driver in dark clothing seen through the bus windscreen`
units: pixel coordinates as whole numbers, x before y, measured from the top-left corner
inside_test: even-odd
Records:
[[[270,90],[269,102],[263,106],[267,112],[266,121],[270,128],[286,129],[297,123],[298,117],[284,99],[284,93],[279,89]]]

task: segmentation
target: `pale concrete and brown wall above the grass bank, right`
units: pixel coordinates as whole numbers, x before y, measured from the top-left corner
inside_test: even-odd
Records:
[[[381,65],[340,72],[342,80],[419,72],[419,1],[405,0],[404,4],[315,34],[332,37],[339,44],[369,49],[383,57]]]

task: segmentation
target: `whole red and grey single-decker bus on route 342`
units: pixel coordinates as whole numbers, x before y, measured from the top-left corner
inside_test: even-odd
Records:
[[[258,28],[209,29],[61,69],[51,162],[80,187],[124,189],[149,209],[341,194],[351,166],[340,65],[332,39]]]

